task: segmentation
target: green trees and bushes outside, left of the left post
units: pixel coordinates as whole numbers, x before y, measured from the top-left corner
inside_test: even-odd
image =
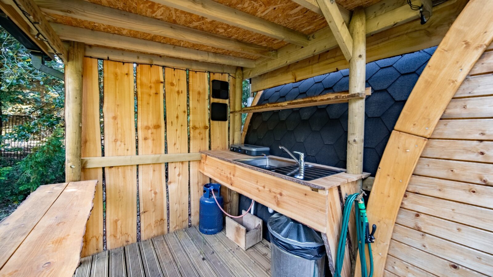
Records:
[[[8,120],[5,114],[25,115],[31,119],[1,136],[0,147],[4,151],[17,151],[5,141],[27,141],[53,131],[51,137],[39,141],[30,155],[12,167],[5,167],[0,156],[1,204],[17,203],[39,185],[64,181],[65,91],[63,80],[35,69],[30,52],[1,27],[0,47],[0,131],[1,123]],[[64,69],[59,61],[46,65],[60,71]]]

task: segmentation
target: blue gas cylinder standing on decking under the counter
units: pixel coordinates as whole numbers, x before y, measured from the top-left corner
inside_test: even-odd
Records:
[[[212,190],[221,208],[223,199],[220,195],[221,185],[207,183],[204,185],[204,195],[200,198],[199,206],[199,230],[202,234],[213,235],[222,231],[222,211],[217,207]]]

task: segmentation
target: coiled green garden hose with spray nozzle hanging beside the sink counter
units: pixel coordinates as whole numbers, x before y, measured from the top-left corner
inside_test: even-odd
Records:
[[[357,203],[357,205],[354,205],[354,213],[356,219],[356,237],[358,240],[359,260],[361,262],[361,276],[373,276],[373,255],[371,252],[371,243],[375,241],[373,234],[375,233],[377,227],[374,224],[372,233],[370,234],[368,218],[366,217],[365,203],[363,201],[363,193],[355,193],[348,196],[348,198],[346,199],[346,205],[344,206],[341,234],[339,237],[339,243],[337,245],[335,277],[341,277],[342,265],[344,263],[344,254],[346,251],[346,238],[348,234],[349,217],[351,215],[351,207],[354,202]],[[370,255],[369,274],[368,268],[366,266],[365,244],[368,244],[368,252]]]

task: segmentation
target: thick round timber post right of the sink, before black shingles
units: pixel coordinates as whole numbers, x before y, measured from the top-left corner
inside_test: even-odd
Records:
[[[349,61],[349,93],[364,93],[366,71],[366,32],[365,11],[358,7],[352,13],[349,32],[352,36],[352,58]],[[347,172],[350,174],[363,173],[363,138],[365,128],[365,99],[349,100],[348,111],[348,153]],[[343,197],[357,193],[362,188],[362,180],[341,186]],[[354,265],[356,253],[356,223],[354,210],[349,221],[351,240],[351,260]]]

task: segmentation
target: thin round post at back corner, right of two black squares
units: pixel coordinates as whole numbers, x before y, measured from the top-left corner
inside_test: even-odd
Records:
[[[232,102],[233,109],[240,110],[242,108],[242,96],[243,96],[243,69],[241,67],[236,68],[236,79],[235,79],[235,91],[232,92]],[[233,132],[231,142],[234,144],[240,144],[242,139],[242,114],[233,114],[233,124],[230,132]],[[240,202],[240,195],[234,190],[230,191],[229,198],[229,209],[231,215],[238,215],[238,205]]]

